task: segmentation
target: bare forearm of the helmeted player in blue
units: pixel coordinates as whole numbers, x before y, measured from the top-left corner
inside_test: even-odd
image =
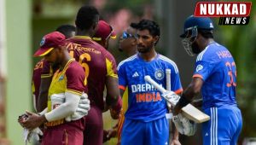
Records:
[[[194,77],[192,82],[189,84],[188,88],[183,91],[183,95],[181,96],[180,100],[177,102],[177,105],[173,109],[173,115],[177,115],[180,113],[181,108],[185,107],[187,104],[192,102],[194,96],[198,96],[201,87],[203,84],[203,79],[200,77]]]

